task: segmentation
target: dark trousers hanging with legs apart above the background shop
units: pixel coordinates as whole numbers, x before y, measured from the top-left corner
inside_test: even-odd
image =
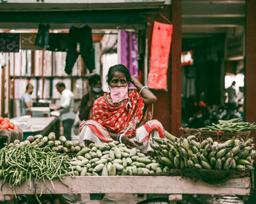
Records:
[[[94,47],[92,45],[91,27],[83,26],[83,28],[76,28],[72,26],[69,29],[69,36],[67,42],[67,58],[65,72],[70,75],[75,61],[80,54],[83,58],[86,68],[89,72],[95,69],[94,62]]]

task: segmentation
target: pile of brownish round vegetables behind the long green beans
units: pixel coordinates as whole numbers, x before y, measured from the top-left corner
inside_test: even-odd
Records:
[[[84,145],[80,145],[78,141],[72,142],[66,139],[64,135],[59,137],[59,140],[56,140],[56,134],[54,132],[50,132],[48,136],[35,135],[29,136],[26,138],[32,145],[38,147],[48,146],[52,149],[52,151],[56,151],[59,153],[78,153]]]

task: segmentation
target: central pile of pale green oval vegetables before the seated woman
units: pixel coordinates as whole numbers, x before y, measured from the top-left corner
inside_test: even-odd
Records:
[[[116,141],[102,145],[91,143],[78,152],[70,165],[75,175],[149,175],[162,172],[156,159]]]

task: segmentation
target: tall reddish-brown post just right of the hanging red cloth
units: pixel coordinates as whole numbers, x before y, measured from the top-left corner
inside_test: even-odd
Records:
[[[171,45],[171,132],[180,135],[181,127],[181,1],[172,1],[173,37]]]

